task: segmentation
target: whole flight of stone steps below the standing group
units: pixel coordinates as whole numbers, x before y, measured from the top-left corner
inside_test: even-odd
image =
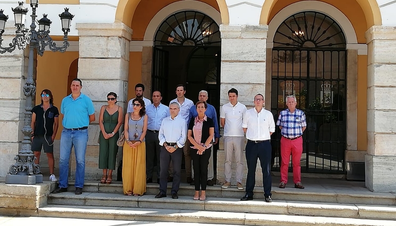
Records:
[[[245,202],[239,200],[245,191],[221,186],[208,187],[205,201],[193,200],[194,187],[187,184],[181,185],[176,200],[169,196],[155,199],[156,184],[148,184],[147,193],[140,197],[123,195],[118,182],[86,182],[82,195],[74,194],[73,184],[69,188],[70,192],[49,194],[48,205],[39,208],[38,215],[228,225],[396,225],[396,195],[365,188],[273,187],[272,203],[263,201],[262,188],[255,188],[255,199]]]

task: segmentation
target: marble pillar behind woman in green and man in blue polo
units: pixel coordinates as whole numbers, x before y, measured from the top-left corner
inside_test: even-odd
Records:
[[[76,24],[79,41],[79,62],[77,77],[82,80],[82,92],[94,102],[96,121],[89,126],[89,140],[86,152],[86,180],[99,180],[99,112],[107,104],[109,92],[118,95],[118,105],[126,113],[128,94],[129,48],[132,29],[123,23],[78,23]],[[120,129],[120,132],[123,128]],[[117,178],[117,167],[121,159],[118,151],[113,181]],[[70,165],[70,177],[75,176],[76,162],[74,153]]]

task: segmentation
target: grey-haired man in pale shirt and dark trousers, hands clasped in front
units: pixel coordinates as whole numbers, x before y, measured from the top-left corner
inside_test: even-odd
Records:
[[[169,105],[170,117],[162,120],[159,129],[159,145],[162,146],[160,153],[161,172],[159,176],[159,193],[155,198],[166,197],[168,167],[172,160],[173,165],[173,183],[172,198],[178,199],[177,192],[180,187],[180,171],[182,168],[182,148],[187,140],[187,123],[181,115],[178,115],[180,106],[177,102],[171,102]]]

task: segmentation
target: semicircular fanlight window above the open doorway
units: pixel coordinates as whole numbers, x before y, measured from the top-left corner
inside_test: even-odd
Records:
[[[155,35],[154,45],[220,45],[216,22],[196,11],[183,11],[169,16]]]

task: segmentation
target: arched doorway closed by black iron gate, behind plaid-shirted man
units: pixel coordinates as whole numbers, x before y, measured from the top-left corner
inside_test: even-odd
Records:
[[[305,112],[301,171],[344,173],[346,149],[347,43],[341,27],[315,11],[296,13],[278,27],[272,50],[271,111],[295,95]],[[273,134],[275,169],[280,131]]]

